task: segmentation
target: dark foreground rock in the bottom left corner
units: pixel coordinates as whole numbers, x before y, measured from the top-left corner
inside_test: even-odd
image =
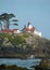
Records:
[[[28,70],[28,69],[23,67],[17,67],[15,65],[13,66],[0,65],[0,70]]]

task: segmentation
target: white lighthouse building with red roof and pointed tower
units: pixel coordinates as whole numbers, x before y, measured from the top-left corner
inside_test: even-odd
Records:
[[[25,27],[24,29],[24,31],[26,32],[33,32],[33,34],[41,37],[41,32],[38,31],[35,27],[33,27],[29,22],[27,24],[27,27]]]

